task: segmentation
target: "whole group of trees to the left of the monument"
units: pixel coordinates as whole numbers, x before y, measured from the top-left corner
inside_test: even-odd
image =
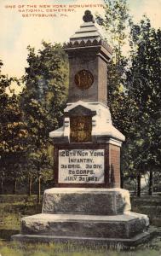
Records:
[[[1,187],[9,173],[14,179],[13,191],[17,177],[25,183],[27,178],[31,195],[32,183],[36,180],[38,201],[42,177],[47,180],[50,173],[50,179],[53,178],[53,145],[49,131],[62,123],[68,77],[67,58],[61,45],[43,42],[42,46],[37,53],[28,47],[28,67],[19,95],[6,92],[13,81],[19,82],[17,79],[4,75],[0,78]]]

